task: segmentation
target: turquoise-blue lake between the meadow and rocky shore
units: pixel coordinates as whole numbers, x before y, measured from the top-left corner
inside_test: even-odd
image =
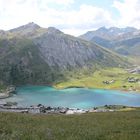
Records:
[[[57,90],[47,86],[24,86],[17,88],[17,95],[7,98],[7,101],[16,101],[23,106],[43,104],[83,109],[106,104],[140,107],[140,93],[87,88]]]

